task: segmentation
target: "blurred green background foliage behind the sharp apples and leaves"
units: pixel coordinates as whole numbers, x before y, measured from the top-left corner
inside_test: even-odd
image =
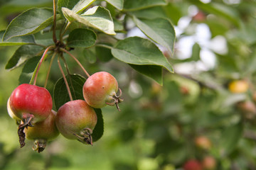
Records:
[[[31,6],[51,6],[51,1],[1,0],[0,28],[5,29],[14,16]],[[81,55],[83,50],[73,52],[87,70],[110,72],[123,89],[120,113],[112,107],[102,108],[105,134],[93,147],[60,136],[41,154],[33,152],[31,141],[19,149],[17,127],[7,114],[6,101],[18,86],[21,69],[4,69],[18,47],[0,47],[0,169],[172,170],[188,159],[206,156],[215,158],[215,169],[256,169],[256,113],[238,109],[237,104],[255,102],[256,2],[169,0],[162,11],[177,34],[174,55],[166,53],[176,73],[164,72],[163,86],[117,60],[92,62]],[[210,31],[207,42],[201,39],[204,32],[197,30],[200,26]],[[185,38],[193,39],[186,58],[180,51],[186,47]],[[215,38],[224,41],[222,51],[216,50],[220,41],[213,43]],[[206,60],[211,58],[203,50],[214,56],[213,67],[208,67]],[[80,72],[75,63],[69,63],[72,72]],[[49,89],[59,77],[53,66]],[[237,79],[249,83],[245,93],[229,91],[228,84]],[[42,74],[38,84],[44,80]],[[208,137],[211,147],[196,146],[198,136]]]

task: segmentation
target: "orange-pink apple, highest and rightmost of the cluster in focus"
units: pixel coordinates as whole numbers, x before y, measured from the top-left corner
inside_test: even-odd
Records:
[[[117,96],[118,90],[120,95]],[[82,88],[82,93],[85,101],[92,108],[102,108],[104,106],[117,106],[122,102],[122,92],[118,88],[117,80],[108,72],[97,72],[92,74]]]

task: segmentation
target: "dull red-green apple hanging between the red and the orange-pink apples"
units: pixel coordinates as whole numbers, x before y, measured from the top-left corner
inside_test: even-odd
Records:
[[[56,125],[61,135],[92,145],[92,130],[97,124],[97,114],[85,101],[69,101],[57,112]]]

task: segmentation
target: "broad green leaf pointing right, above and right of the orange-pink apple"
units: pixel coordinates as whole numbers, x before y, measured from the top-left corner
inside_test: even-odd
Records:
[[[128,64],[156,65],[166,68],[169,72],[174,72],[159,48],[150,40],[143,38],[131,37],[120,40],[112,48],[112,55]]]

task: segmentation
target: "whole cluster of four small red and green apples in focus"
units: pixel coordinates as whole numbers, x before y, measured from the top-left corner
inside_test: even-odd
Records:
[[[46,143],[59,134],[92,145],[92,132],[97,124],[94,108],[115,105],[119,110],[122,91],[111,74],[97,72],[85,81],[82,93],[85,100],[68,101],[56,112],[46,88],[21,84],[14,89],[7,101],[7,110],[18,124],[21,147],[25,139],[34,140],[33,150],[42,152]]]

